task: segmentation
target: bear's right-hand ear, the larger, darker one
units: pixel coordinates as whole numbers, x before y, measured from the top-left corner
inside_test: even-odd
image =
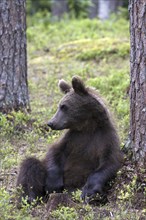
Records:
[[[72,78],[72,87],[79,95],[86,95],[88,93],[83,81],[78,76]]]

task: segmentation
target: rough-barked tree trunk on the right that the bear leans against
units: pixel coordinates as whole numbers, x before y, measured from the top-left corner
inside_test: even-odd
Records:
[[[129,11],[130,140],[136,162],[144,167],[146,165],[146,1],[129,0]]]

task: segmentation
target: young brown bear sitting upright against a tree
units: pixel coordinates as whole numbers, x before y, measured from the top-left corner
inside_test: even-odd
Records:
[[[77,188],[85,200],[103,193],[121,167],[119,138],[101,98],[79,77],[72,78],[72,86],[60,80],[59,87],[65,95],[48,125],[67,130],[42,161],[28,158],[22,162],[17,186],[22,186],[22,196],[29,202]]]

